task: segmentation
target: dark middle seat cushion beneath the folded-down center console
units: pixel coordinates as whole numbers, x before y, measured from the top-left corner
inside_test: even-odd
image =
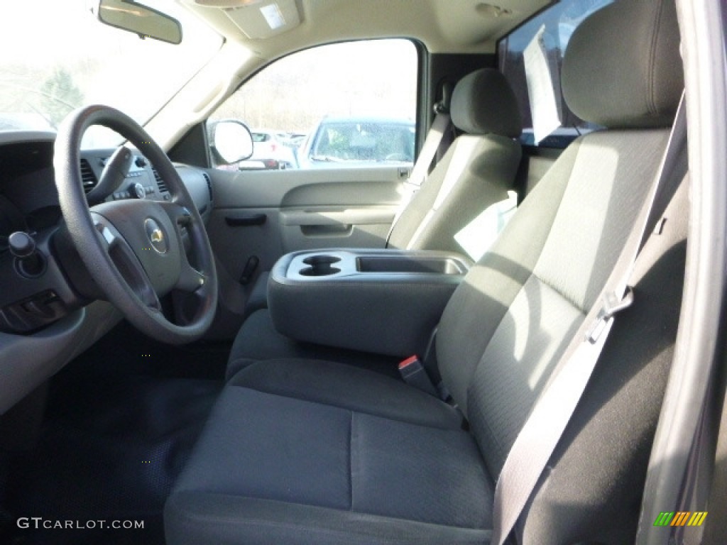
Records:
[[[249,315],[238,332],[228,361],[227,379],[256,361],[279,358],[308,358],[348,363],[369,368],[382,374],[398,377],[397,364],[401,358],[392,358],[356,350],[324,347],[319,344],[297,342],[281,335],[270,320],[270,311],[261,309]]]

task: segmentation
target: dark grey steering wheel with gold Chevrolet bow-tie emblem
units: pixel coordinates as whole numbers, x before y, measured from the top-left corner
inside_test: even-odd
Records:
[[[130,199],[89,208],[80,148],[84,132],[93,125],[119,133],[151,161],[169,187],[170,201]],[[53,165],[71,241],[108,300],[134,326],[161,342],[182,344],[201,337],[217,308],[214,257],[202,218],[164,151],[129,116],[92,105],[74,111],[61,124]],[[195,267],[182,245],[182,230],[190,238]],[[159,298],[172,291],[197,299],[196,314],[183,325],[172,323],[162,312]]]

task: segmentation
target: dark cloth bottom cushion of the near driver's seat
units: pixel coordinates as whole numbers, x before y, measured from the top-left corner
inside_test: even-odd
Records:
[[[166,538],[483,542],[493,491],[446,403],[371,371],[270,360],[222,392],[167,501]]]

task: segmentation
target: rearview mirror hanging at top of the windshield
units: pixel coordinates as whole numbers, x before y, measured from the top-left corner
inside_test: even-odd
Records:
[[[153,38],[175,45],[182,43],[179,21],[133,0],[100,0],[95,12],[104,25],[133,32],[141,39]]]

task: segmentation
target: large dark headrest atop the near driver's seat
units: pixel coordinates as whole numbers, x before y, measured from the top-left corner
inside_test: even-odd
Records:
[[[684,77],[674,0],[616,1],[590,15],[563,57],[563,97],[609,128],[671,126]]]

